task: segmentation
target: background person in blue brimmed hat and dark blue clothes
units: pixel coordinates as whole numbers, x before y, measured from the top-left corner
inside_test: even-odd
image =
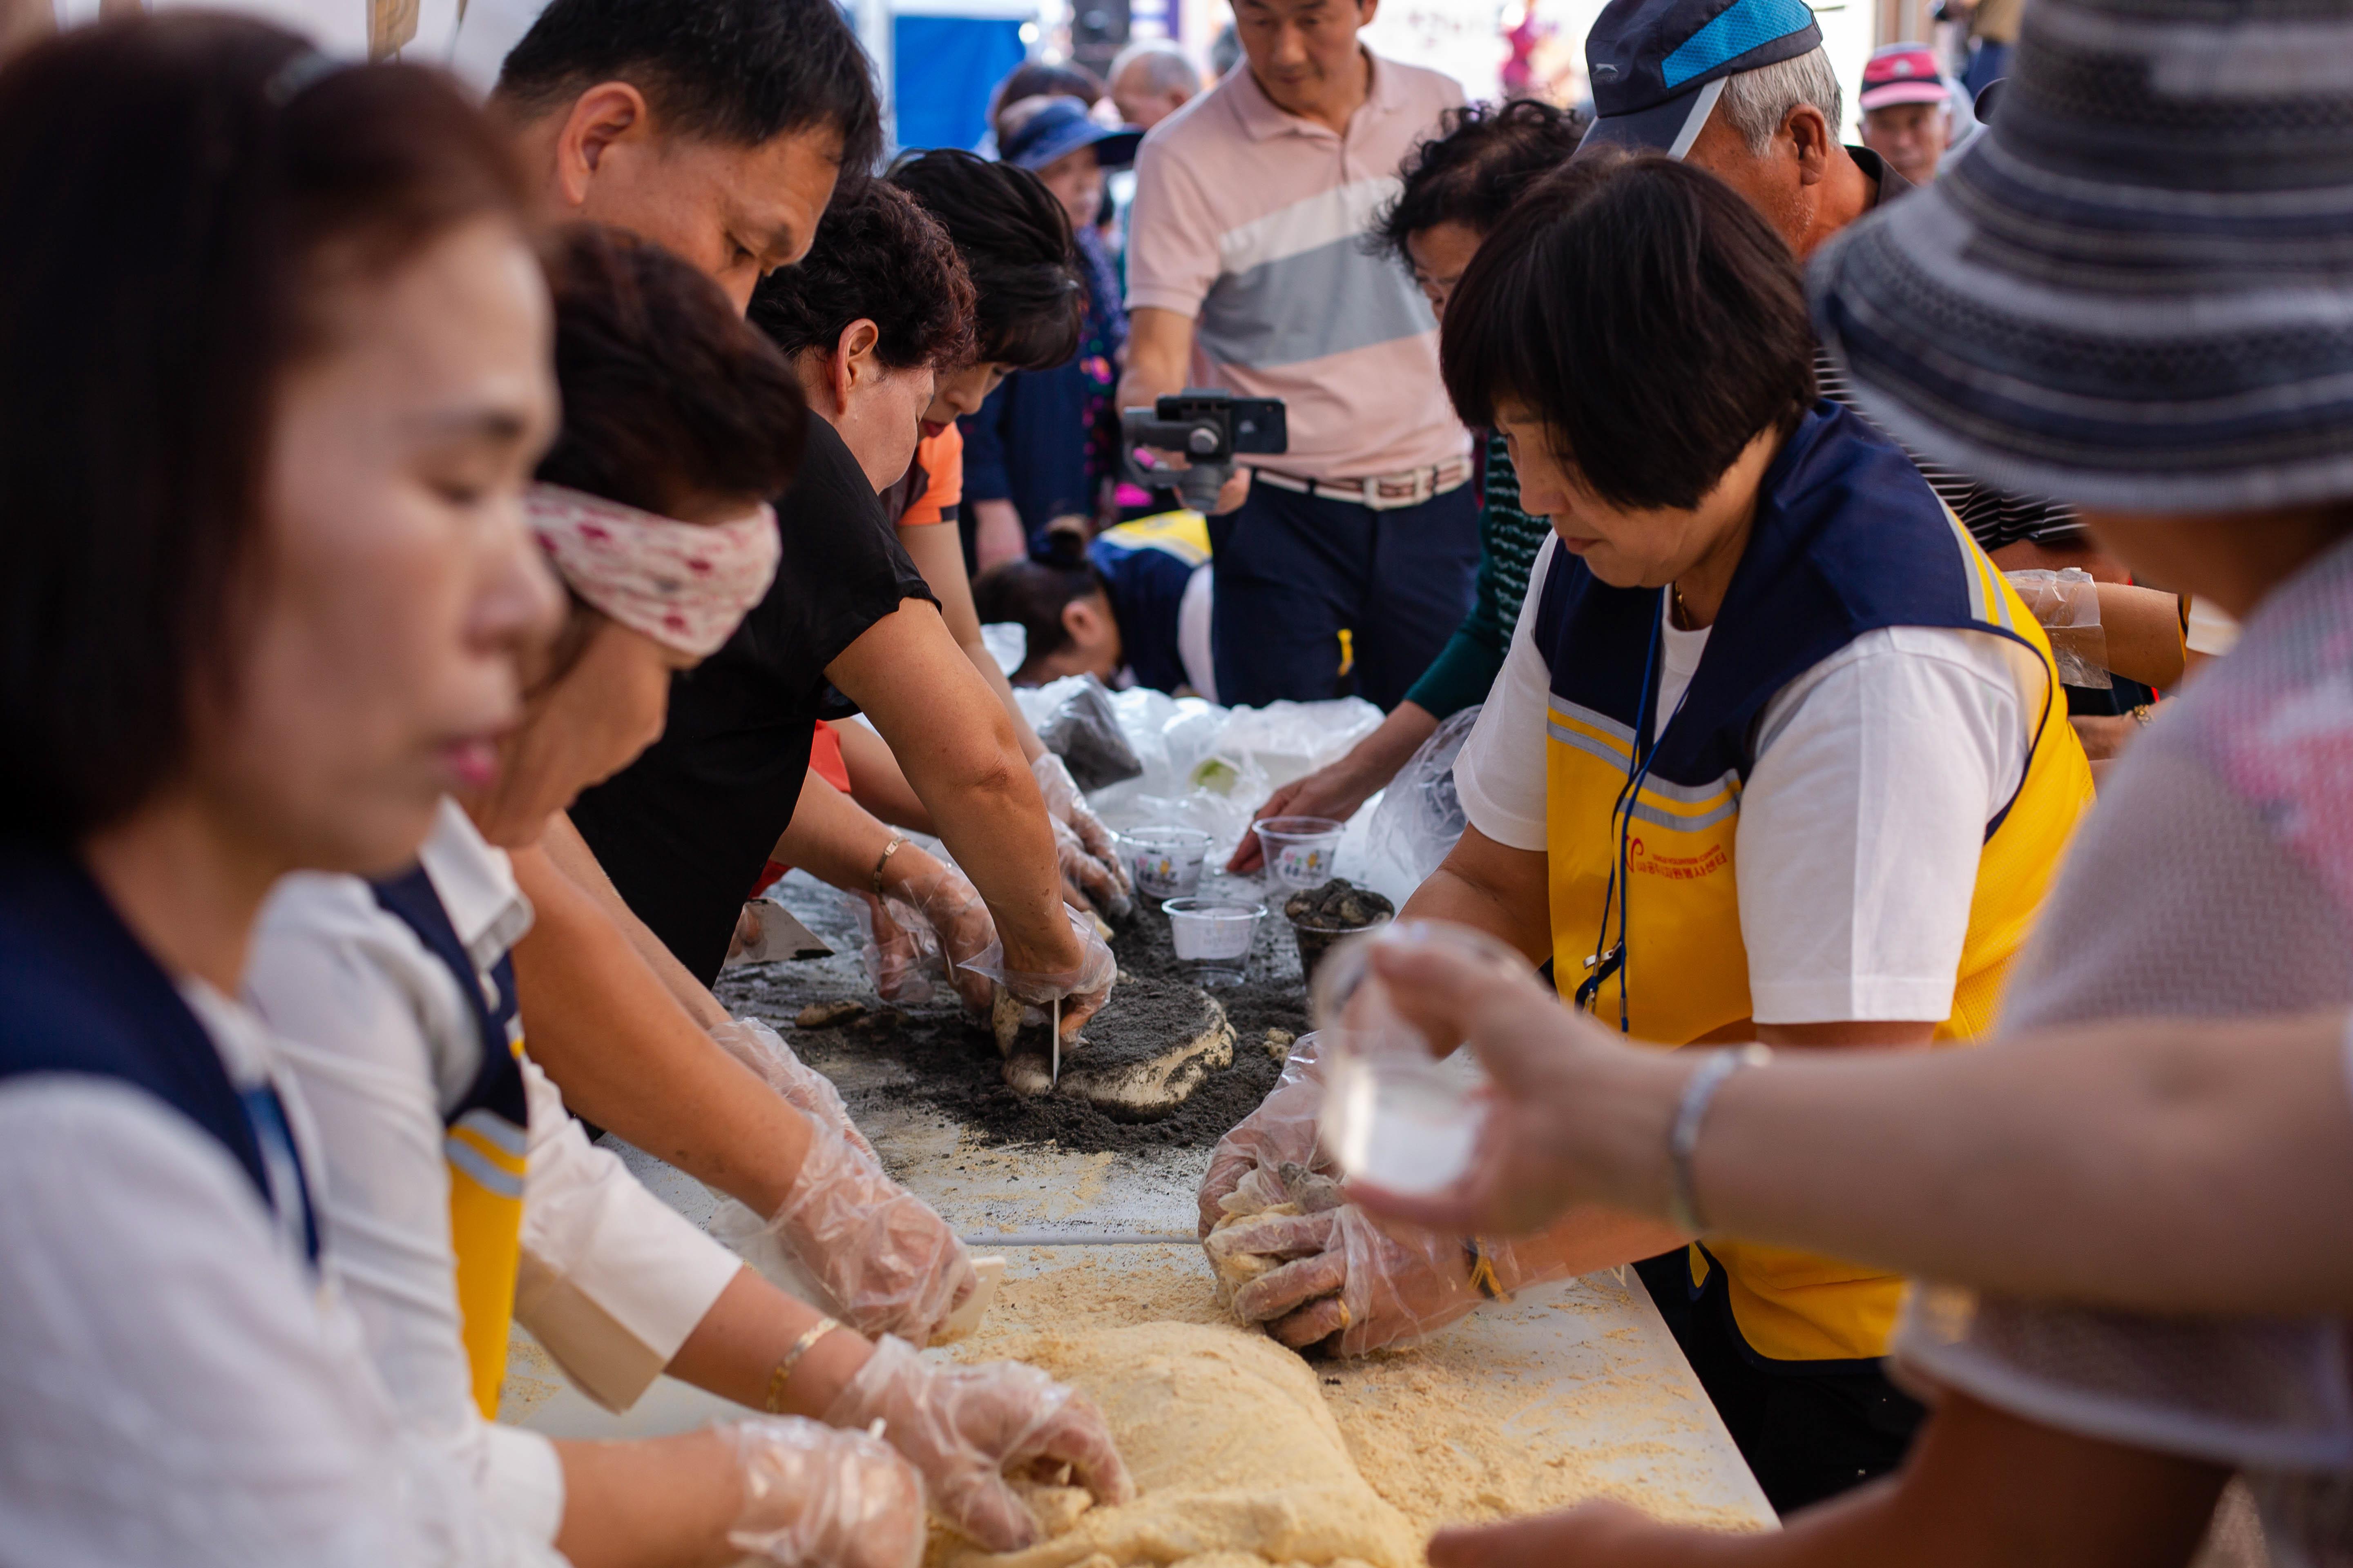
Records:
[[[1031,96],[998,113],[998,153],[1035,174],[1071,219],[1085,277],[1078,353],[1049,369],[1014,371],[965,435],[965,498],[974,510],[974,569],[1042,552],[1052,529],[1094,531],[1118,477],[1111,388],[1127,353],[1120,275],[1096,216],[1104,172],[1136,158],[1144,132],[1108,129],[1075,96]]]

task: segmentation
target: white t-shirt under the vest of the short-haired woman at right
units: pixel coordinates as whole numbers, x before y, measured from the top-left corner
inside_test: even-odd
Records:
[[[1558,550],[1537,552],[1504,672],[1454,762],[1471,825],[1511,849],[1546,849],[1551,672],[1534,628]],[[1657,729],[1706,644],[1666,628]],[[1758,1023],[1951,1016],[1986,823],[2026,776],[2040,701],[2026,649],[1918,625],[1866,632],[1774,693],[1732,849]]]

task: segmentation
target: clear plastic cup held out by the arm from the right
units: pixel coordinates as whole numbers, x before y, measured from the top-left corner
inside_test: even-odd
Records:
[[[1482,931],[1407,919],[1334,947],[1315,971],[1313,994],[1325,1065],[1322,1147],[1341,1173],[1402,1194],[1461,1180],[1489,1105],[1478,1058],[1414,1027],[1372,971],[1374,950],[1426,943],[1468,952],[1497,973],[1527,973],[1527,959]]]

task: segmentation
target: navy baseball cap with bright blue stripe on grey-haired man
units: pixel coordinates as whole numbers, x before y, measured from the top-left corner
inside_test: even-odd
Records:
[[[1682,158],[1725,78],[1821,47],[1805,0],[1609,0],[1586,33],[1593,129],[1577,146]]]

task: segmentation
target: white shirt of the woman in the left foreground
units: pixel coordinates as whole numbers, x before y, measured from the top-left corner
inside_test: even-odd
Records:
[[[233,1079],[261,1023],[188,983]],[[299,1086],[287,1124],[318,1180]],[[0,1084],[0,1563],[560,1568],[400,1420],[327,1255],[313,1274],[207,1133],[78,1074]]]

